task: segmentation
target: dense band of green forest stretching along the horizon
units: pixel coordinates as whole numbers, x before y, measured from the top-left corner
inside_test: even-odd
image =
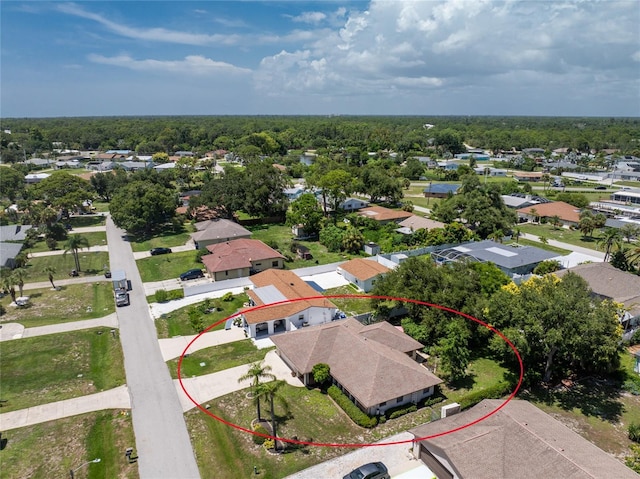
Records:
[[[435,125],[425,128],[425,125]],[[11,131],[10,134],[5,130]],[[537,147],[637,149],[638,119],[536,117],[155,117],[3,119],[5,162],[65,148],[129,149],[139,154],[177,150],[238,150],[284,155],[290,149],[353,148],[462,151],[463,142],[494,151]]]

